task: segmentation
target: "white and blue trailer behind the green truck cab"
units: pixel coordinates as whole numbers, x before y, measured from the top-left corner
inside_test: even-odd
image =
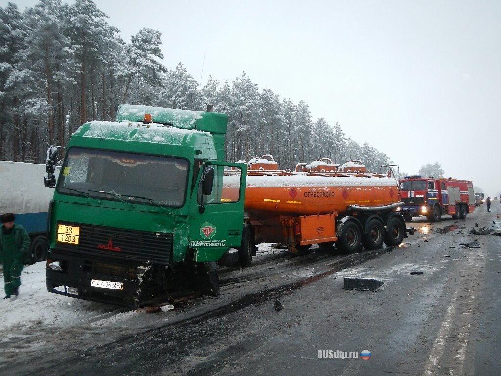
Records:
[[[14,213],[16,223],[30,234],[26,263],[47,259],[47,218],[54,190],[44,186],[45,168],[44,164],[0,160],[0,214]]]

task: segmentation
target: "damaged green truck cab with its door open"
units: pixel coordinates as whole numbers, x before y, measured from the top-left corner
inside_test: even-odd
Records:
[[[121,105],[82,125],[56,183],[48,152],[47,288],[137,308],[178,286],[219,288],[240,250],[245,164],[224,162],[227,115]],[[248,252],[248,250],[246,250]]]

